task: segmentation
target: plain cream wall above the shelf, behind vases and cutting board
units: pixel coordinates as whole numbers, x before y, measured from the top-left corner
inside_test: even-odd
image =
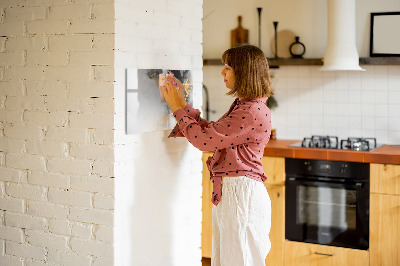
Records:
[[[230,46],[230,31],[242,26],[249,30],[249,43],[258,45],[258,12],[261,13],[261,49],[267,57],[274,55],[274,26],[300,36],[307,58],[324,56],[327,41],[327,0],[204,0],[204,58],[220,58]],[[356,42],[360,57],[369,56],[370,13],[399,11],[398,0],[356,1]],[[294,40],[293,40],[294,41]],[[288,48],[289,49],[289,48]],[[279,52],[279,49],[278,49]]]

